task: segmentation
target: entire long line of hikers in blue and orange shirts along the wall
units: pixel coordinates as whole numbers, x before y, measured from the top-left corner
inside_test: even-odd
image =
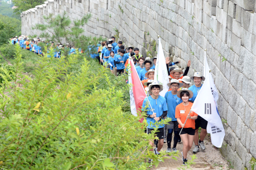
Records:
[[[39,42],[44,42],[40,38],[34,38],[30,41],[27,36],[13,37],[11,43],[19,43],[20,47],[32,51],[36,54],[42,54],[41,47],[38,46]],[[51,43],[51,47],[54,46],[54,42]],[[60,44],[56,44],[56,47],[64,48]],[[70,48],[69,45],[65,48]],[[139,48],[128,46],[124,48],[123,42],[115,42],[115,37],[112,36],[108,41],[103,41],[95,48],[96,53],[90,54],[91,58],[95,58],[99,64],[109,68],[110,71],[118,76],[128,71],[128,58],[131,58],[136,66],[136,72],[139,79],[143,84],[144,90],[147,94],[147,98],[143,101],[143,111],[146,112],[147,130],[146,133],[150,134],[154,128],[157,128],[158,140],[150,140],[149,143],[154,148],[151,152],[159,155],[160,150],[165,142],[167,142],[166,152],[177,152],[177,143],[183,142],[182,149],[182,161],[183,165],[187,164],[187,154],[192,148],[193,142],[195,143],[194,153],[205,150],[203,143],[207,134],[207,121],[198,116],[195,112],[190,112],[190,109],[195,101],[197,94],[202,87],[202,80],[205,80],[202,73],[195,72],[194,76],[188,77],[188,70],[191,65],[191,61],[188,61],[187,67],[184,72],[181,69],[172,67],[178,64],[180,61],[171,62],[169,57],[166,58],[166,69],[169,75],[169,91],[165,96],[160,96],[159,92],[163,90],[163,86],[154,82],[154,72],[157,57],[144,58],[142,54],[139,54]],[[74,53],[75,48],[70,49],[70,53]],[[56,52],[55,57],[61,55],[61,52]],[[192,85],[191,82],[194,82]],[[192,86],[191,86],[192,85]],[[161,119],[170,118],[171,121],[165,126],[159,123],[157,126],[152,125],[156,121]],[[186,123],[185,123],[186,121]],[[201,127],[200,138],[198,134],[199,127]],[[174,134],[174,137],[173,137]],[[173,137],[173,147],[171,147]],[[149,159],[149,162],[152,162]]]

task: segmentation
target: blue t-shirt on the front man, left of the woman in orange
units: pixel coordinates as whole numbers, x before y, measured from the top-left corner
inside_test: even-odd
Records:
[[[151,96],[148,97],[148,100],[152,106],[152,109],[154,110],[154,113],[156,113],[156,117],[160,117],[164,111],[167,110],[167,105],[166,105],[166,99],[162,96],[158,96],[158,98],[155,100]],[[142,105],[142,110],[146,111],[147,114],[152,115],[153,112],[151,110],[151,107],[148,103],[147,98],[144,99],[143,105]],[[147,108],[145,108],[147,106]],[[144,109],[143,109],[144,108]],[[160,121],[160,120],[159,120]],[[153,129],[155,126],[151,126],[150,123],[154,124],[156,121],[154,118],[147,117],[147,128]],[[164,124],[159,124],[158,128],[164,127]]]

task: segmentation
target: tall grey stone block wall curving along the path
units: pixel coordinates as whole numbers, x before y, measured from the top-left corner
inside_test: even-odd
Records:
[[[21,14],[22,34],[38,34],[31,26],[49,13],[67,11],[73,20],[90,12],[87,36],[116,35],[155,56],[160,35],[165,56],[181,61],[181,68],[192,61],[188,76],[203,71],[207,49],[225,119],[222,155],[234,169],[250,170],[256,158],[255,7],[255,0],[48,0]]]

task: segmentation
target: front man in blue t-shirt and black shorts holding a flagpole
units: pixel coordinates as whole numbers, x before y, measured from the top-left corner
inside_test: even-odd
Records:
[[[149,85],[148,89],[149,93],[152,95],[144,99],[142,110],[147,112],[147,134],[151,134],[154,128],[158,130],[158,132],[156,132],[156,136],[159,138],[158,148],[154,149],[154,154],[159,155],[159,152],[164,145],[164,124],[161,124],[161,119],[167,115],[167,105],[166,99],[159,96],[159,92],[163,90],[162,85],[153,82]],[[156,122],[159,124],[152,125]],[[154,140],[149,140],[149,144],[154,147]],[[153,148],[150,151],[153,151]],[[152,160],[150,159],[149,161],[151,162]]]

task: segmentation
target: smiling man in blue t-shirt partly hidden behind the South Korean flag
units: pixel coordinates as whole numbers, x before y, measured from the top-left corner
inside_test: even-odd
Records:
[[[196,96],[199,93],[200,89],[202,88],[203,84],[202,84],[202,80],[204,81],[205,78],[202,75],[201,72],[195,72],[194,76],[190,77],[191,80],[194,81],[195,85],[191,86],[188,88],[188,90],[191,90],[193,92],[193,97],[191,98],[192,101],[196,100]],[[195,136],[194,136],[194,143],[195,143],[195,148],[193,149],[194,153],[199,152],[199,146],[202,150],[205,150],[205,146],[203,143],[204,138],[207,135],[207,120],[203,119],[201,116],[197,116],[197,119],[195,120]],[[200,139],[199,139],[199,135],[198,135],[198,129],[199,127],[201,127],[201,133],[200,133]],[[199,141],[198,141],[199,140]]]

